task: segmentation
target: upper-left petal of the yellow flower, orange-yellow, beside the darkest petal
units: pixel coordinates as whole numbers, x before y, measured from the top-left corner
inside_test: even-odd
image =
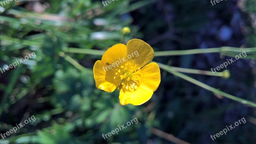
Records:
[[[109,48],[101,58],[101,64],[103,66],[112,65],[112,63],[122,63],[122,59],[126,60],[127,47],[124,44],[116,44]],[[121,62],[120,62],[121,61]]]

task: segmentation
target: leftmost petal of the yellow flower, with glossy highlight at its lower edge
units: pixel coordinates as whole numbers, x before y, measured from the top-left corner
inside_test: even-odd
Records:
[[[106,92],[113,92],[120,81],[114,80],[114,72],[112,70],[104,70],[101,61],[97,60],[93,66],[93,77],[96,87]]]

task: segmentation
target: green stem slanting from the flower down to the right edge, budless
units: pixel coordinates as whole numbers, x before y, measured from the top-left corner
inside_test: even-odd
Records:
[[[252,101],[248,101],[248,100],[244,100],[244,99],[241,99],[241,98],[237,98],[237,97],[235,97],[233,95],[230,95],[228,93],[222,92],[222,91],[220,91],[220,90],[218,90],[216,88],[213,88],[213,87],[211,87],[211,86],[209,86],[207,84],[199,82],[196,79],[193,79],[193,78],[191,78],[189,76],[186,76],[186,75],[184,75],[184,74],[182,74],[180,72],[174,71],[170,66],[164,65],[164,64],[159,63],[159,62],[157,62],[157,64],[159,65],[160,68],[162,68],[162,69],[172,73],[173,75],[178,76],[178,77],[180,77],[182,79],[185,79],[185,80],[187,80],[187,81],[189,81],[189,82],[191,82],[193,84],[196,84],[196,85],[198,85],[198,86],[200,86],[200,87],[202,87],[202,88],[204,88],[204,89],[206,89],[208,91],[213,92],[214,94],[219,94],[219,95],[222,95],[223,97],[226,97],[226,98],[229,98],[231,100],[235,100],[235,101],[238,101],[238,102],[240,102],[242,104],[247,104],[247,105],[250,105],[250,106],[256,108],[256,103],[254,103]]]

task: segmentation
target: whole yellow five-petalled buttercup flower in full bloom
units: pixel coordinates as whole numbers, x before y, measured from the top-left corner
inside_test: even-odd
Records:
[[[149,63],[153,58],[153,49],[140,39],[112,46],[94,64],[96,87],[106,92],[120,90],[122,105],[147,102],[161,80],[159,66]]]

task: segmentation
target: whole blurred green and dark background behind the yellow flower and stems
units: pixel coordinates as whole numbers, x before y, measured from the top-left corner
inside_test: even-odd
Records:
[[[236,2],[222,1],[212,6],[209,1],[119,0],[104,7],[99,0],[17,0],[0,6],[0,67],[36,53],[35,58],[0,73],[0,132],[36,116],[34,123],[0,140],[0,144],[170,143],[153,135],[152,127],[190,143],[254,143],[255,125],[248,117],[255,116],[252,108],[217,99],[211,92],[164,71],[149,102],[136,107],[121,106],[118,92],[108,93],[95,87],[92,67],[101,56],[66,53],[88,71],[76,69],[60,56],[68,47],[107,50],[122,39],[126,44],[134,37],[145,40],[155,51],[255,46],[255,27],[250,16],[256,11],[256,1],[246,0],[241,8],[243,13]],[[234,35],[223,41],[225,36],[219,31],[226,25]],[[124,27],[131,32],[123,37],[120,31]],[[248,29],[245,34],[243,27]],[[172,60],[174,66],[203,70],[223,63],[219,59],[219,54],[155,58],[164,63]],[[254,76],[248,63],[239,60],[229,66],[231,78],[227,80],[195,77],[255,101]],[[138,124],[107,140],[102,138],[102,134],[135,117]],[[211,134],[242,117],[246,124],[212,141]]]

